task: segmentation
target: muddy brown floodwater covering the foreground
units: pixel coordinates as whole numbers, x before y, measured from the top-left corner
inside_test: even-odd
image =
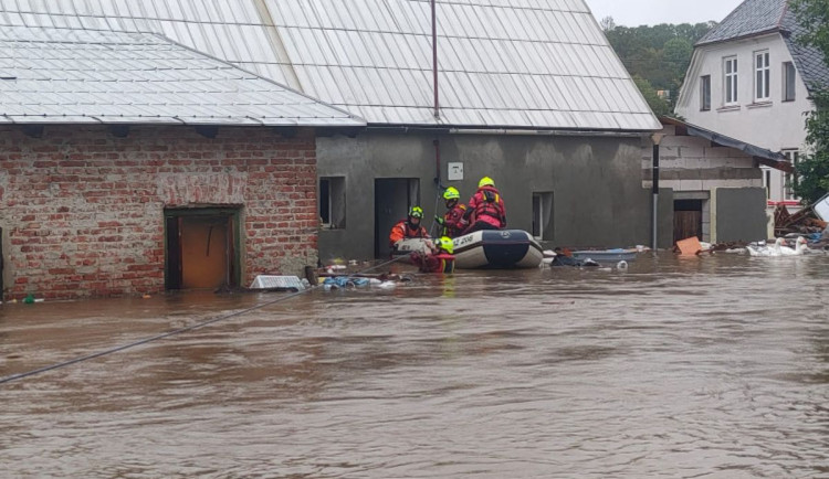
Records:
[[[0,476],[827,478],[829,256],[0,306]],[[221,319],[246,308],[259,309]]]

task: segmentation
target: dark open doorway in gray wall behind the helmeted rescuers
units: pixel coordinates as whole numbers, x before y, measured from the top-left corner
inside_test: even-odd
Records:
[[[375,257],[391,254],[389,232],[409,214],[409,207],[420,205],[420,180],[417,178],[386,178],[375,180]],[[426,227],[428,222],[423,219]]]

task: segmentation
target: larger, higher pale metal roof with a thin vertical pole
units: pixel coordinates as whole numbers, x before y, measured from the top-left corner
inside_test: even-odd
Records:
[[[370,124],[657,130],[584,0],[0,0],[0,21],[147,31]],[[22,13],[21,13],[22,12]]]

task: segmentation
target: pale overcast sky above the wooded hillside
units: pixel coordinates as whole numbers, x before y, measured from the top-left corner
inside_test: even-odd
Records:
[[[617,25],[722,21],[743,0],[586,0],[594,17],[612,17]]]

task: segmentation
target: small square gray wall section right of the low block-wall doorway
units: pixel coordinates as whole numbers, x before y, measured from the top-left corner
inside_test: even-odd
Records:
[[[717,189],[716,217],[717,242],[766,240],[766,190]]]

